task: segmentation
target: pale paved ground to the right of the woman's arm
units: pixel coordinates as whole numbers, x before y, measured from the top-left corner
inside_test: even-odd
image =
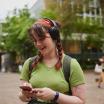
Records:
[[[104,104],[104,84],[102,88],[97,87],[95,79],[98,75],[93,72],[85,73],[87,86],[87,103],[86,104]]]

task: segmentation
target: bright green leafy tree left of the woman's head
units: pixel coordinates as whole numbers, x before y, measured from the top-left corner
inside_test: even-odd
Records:
[[[19,10],[18,14],[14,10],[12,17],[7,16],[2,24],[2,42],[4,51],[15,52],[17,55],[27,58],[35,52],[33,44],[28,37],[28,28],[35,20],[30,18],[28,8]]]

